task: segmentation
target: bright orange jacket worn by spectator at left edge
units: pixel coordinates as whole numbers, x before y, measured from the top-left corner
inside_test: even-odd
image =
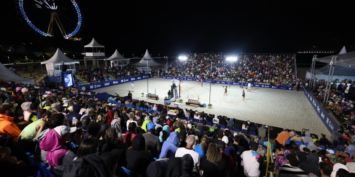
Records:
[[[13,142],[17,142],[20,133],[21,130],[13,123],[13,117],[0,114],[0,135],[7,134],[9,138],[13,137]]]

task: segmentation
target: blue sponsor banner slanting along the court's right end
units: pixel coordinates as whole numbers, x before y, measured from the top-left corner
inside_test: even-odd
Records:
[[[337,131],[339,129],[339,125],[337,122],[333,120],[333,118],[327,113],[326,110],[318,103],[316,98],[313,96],[312,92],[310,92],[307,88],[304,89],[304,93],[308,98],[308,101],[313,106],[313,109],[316,111],[318,117],[321,119],[323,124],[327,127],[330,133],[333,131]]]

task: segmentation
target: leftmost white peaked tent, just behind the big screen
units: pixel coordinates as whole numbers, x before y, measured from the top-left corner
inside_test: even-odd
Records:
[[[41,64],[45,64],[48,75],[59,75],[62,62],[67,65],[67,70],[72,70],[75,73],[75,63],[79,63],[79,61],[68,58],[59,48],[49,60],[41,62]]]

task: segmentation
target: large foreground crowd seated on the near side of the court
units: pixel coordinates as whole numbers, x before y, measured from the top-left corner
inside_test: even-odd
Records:
[[[13,82],[1,82],[1,89],[16,95],[1,92],[0,163],[7,169],[2,171],[5,176],[123,176],[130,172],[154,177],[257,177],[266,170],[268,141],[277,176],[355,172],[355,137],[344,131],[339,132],[343,133],[339,141],[331,142],[325,135],[318,138],[309,132],[187,109],[172,108],[179,110],[173,117],[164,105],[127,97],[100,101],[87,99],[94,94],[88,91]],[[43,109],[38,96],[47,97]],[[118,107],[112,101],[151,110]],[[207,126],[213,119],[218,119],[218,125]],[[256,132],[255,136],[249,132]]]

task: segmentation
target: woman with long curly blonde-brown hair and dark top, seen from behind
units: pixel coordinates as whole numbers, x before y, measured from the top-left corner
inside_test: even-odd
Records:
[[[201,160],[203,177],[225,176],[226,162],[217,144],[208,145],[206,156]]]

